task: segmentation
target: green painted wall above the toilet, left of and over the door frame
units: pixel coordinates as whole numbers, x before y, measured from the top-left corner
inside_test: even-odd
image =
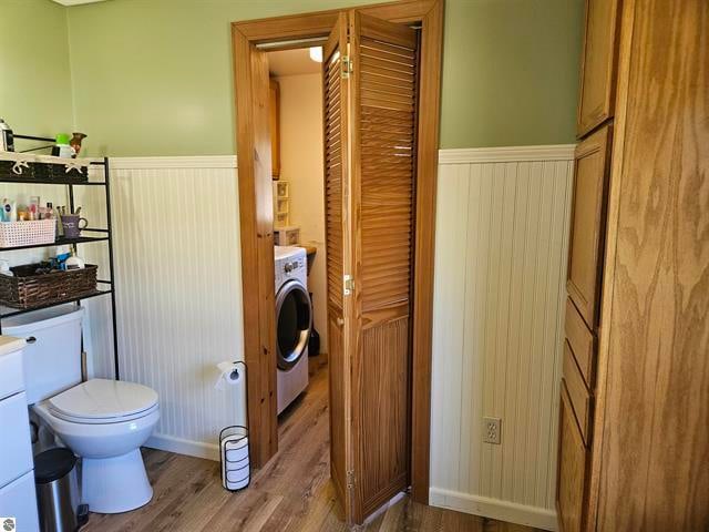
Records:
[[[374,1],[374,0],[372,0]],[[70,8],[76,126],[110,155],[236,153],[230,22],[352,0],[113,0]]]

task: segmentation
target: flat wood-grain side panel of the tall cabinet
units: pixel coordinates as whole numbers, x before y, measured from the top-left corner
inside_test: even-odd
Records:
[[[596,530],[708,531],[709,2],[627,8]]]

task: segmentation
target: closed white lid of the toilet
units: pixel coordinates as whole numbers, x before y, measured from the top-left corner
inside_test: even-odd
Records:
[[[91,379],[52,397],[49,403],[55,412],[72,418],[123,418],[154,407],[157,393],[135,382]]]

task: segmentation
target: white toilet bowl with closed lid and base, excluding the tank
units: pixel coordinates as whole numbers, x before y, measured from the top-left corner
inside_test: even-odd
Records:
[[[81,499],[92,512],[127,512],[150,502],[153,489],[140,447],[160,419],[154,390],[91,379],[32,408],[81,457]]]

